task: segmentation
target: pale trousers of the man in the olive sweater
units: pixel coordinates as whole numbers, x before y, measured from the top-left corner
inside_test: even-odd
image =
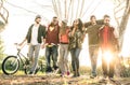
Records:
[[[99,52],[98,45],[89,46],[92,76],[96,76],[98,52]]]

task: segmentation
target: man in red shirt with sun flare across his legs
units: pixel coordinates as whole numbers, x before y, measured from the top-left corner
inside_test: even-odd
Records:
[[[103,80],[114,77],[115,52],[118,46],[115,28],[109,25],[109,16],[104,15],[104,25],[100,29],[100,46],[102,51]],[[109,55],[110,54],[110,55]],[[107,61],[110,58],[109,62]]]

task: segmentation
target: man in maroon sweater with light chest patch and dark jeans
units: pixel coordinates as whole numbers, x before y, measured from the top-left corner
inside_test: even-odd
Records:
[[[53,60],[54,70],[57,69],[57,44],[58,44],[58,32],[60,26],[57,17],[53,17],[52,23],[49,25],[46,36],[46,60],[47,60],[47,72],[51,72],[51,57]]]

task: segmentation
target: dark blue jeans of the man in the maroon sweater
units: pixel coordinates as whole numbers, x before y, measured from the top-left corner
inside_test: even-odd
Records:
[[[53,68],[56,68],[57,62],[57,45],[53,45],[51,47],[46,47],[46,61],[47,61],[47,68],[51,67],[51,56],[53,60]]]

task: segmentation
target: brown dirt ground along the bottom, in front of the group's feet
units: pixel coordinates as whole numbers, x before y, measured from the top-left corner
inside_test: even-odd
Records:
[[[44,75],[0,75],[0,85],[130,85],[130,77],[116,77],[115,82],[106,80],[100,83],[101,76],[89,79],[89,75],[79,77],[60,76],[58,74]]]

